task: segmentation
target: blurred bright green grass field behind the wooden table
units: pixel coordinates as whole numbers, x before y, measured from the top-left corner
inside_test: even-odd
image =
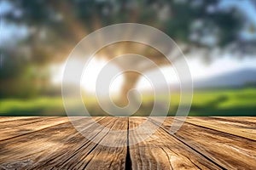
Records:
[[[143,106],[152,105],[152,99],[152,97],[144,97]],[[85,100],[89,103],[88,111],[93,113],[92,116],[104,115],[95,105],[95,99]],[[179,94],[172,94],[169,116],[175,115],[178,103]],[[75,100],[72,105],[76,110]],[[147,108],[144,107],[135,115],[147,116],[148,111],[151,111]],[[61,97],[1,99],[0,114],[1,116],[66,116]],[[256,88],[195,91],[189,116],[256,116]]]

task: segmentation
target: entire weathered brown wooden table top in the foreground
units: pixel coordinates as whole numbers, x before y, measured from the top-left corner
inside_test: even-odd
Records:
[[[166,117],[132,145],[148,129],[128,129],[144,121],[153,128],[160,117],[93,117],[103,126],[86,119],[84,138],[67,117],[0,117],[0,169],[256,169],[256,117],[187,117],[174,134],[181,117]]]

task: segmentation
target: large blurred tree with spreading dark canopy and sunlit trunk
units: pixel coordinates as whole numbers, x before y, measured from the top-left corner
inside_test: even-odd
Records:
[[[219,3],[220,0],[20,0],[11,2],[14,10],[4,14],[4,20],[26,25],[29,33],[24,43],[30,47],[32,62],[37,65],[66,59],[75,44],[91,31],[122,22],[159,28],[183,47],[183,53],[204,50],[205,58],[213,48],[248,53],[254,42],[240,37],[247,20],[237,8],[218,8]],[[158,65],[169,64],[160,52],[142,44],[114,45],[124,54],[134,52]],[[111,46],[100,53],[107,59],[115,56]],[[122,96],[134,88],[138,78],[136,73],[125,74]]]

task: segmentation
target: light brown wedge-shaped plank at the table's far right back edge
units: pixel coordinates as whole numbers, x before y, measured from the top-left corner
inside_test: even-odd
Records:
[[[186,122],[256,140],[256,117],[187,117]]]

